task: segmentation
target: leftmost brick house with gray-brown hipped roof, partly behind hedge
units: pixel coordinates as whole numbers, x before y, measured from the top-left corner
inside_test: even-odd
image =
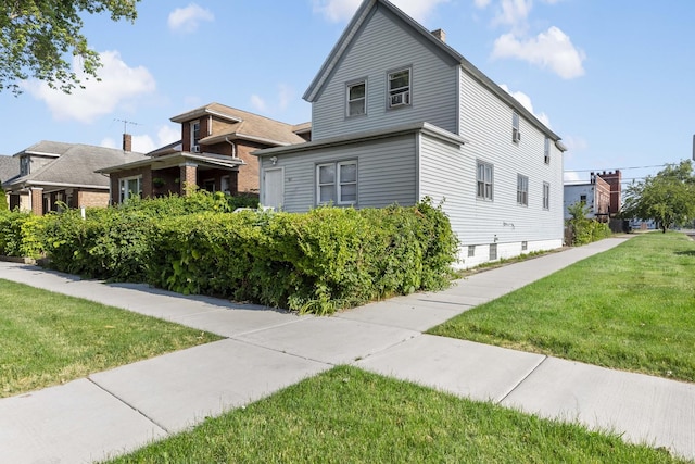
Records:
[[[96,171],[147,158],[142,153],[81,143],[40,141],[13,155],[18,174],[2,183],[10,209],[42,215],[70,208],[106,206],[109,178]]]

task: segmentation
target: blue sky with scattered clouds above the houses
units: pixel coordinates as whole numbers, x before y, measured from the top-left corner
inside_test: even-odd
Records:
[[[394,0],[558,134],[566,179],[623,179],[692,156],[695,2]],[[85,17],[101,83],[71,96],[36,81],[0,93],[0,154],[39,140],[134,149],[178,139],[169,117],[216,101],[287,123],[359,0],[142,0],[135,24]],[[647,166],[641,168],[632,168]]]

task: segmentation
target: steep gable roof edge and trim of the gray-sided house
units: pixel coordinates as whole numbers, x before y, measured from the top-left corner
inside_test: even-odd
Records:
[[[490,90],[493,95],[495,95],[500,100],[507,103],[510,108],[517,111],[519,114],[523,115],[526,120],[528,120],[531,124],[533,124],[538,129],[545,133],[548,137],[551,137],[555,142],[557,142],[560,137],[552,131],[545,124],[541,123],[538,117],[533,115],[529,110],[527,110],[517,99],[511,97],[509,92],[505,91],[497,84],[492,81],[490,77],[485,76],[480,70],[472,65],[468,60],[466,60],[460,53],[454,50],[452,47],[446,45],[446,42],[440,40],[432,33],[430,33],[427,28],[425,28],[421,24],[413,20],[410,16],[405,14],[402,10],[395,7],[388,0],[364,0],[357,12],[353,16],[353,18],[348,24],[348,27],[343,32],[343,34],[338,39],[338,42],[326,58],[326,61],[321,65],[318,74],[312,80],[312,84],[308,86],[304,96],[302,97],[304,100],[309,103],[316,101],[333,73],[333,70],[340,64],[343,55],[350,49],[352,41],[357,36],[362,26],[369,20],[371,14],[377,8],[383,8],[415,33],[416,37],[419,37],[420,40],[433,46],[435,50],[443,53],[446,57],[450,57],[454,62],[458,63],[460,67],[467,72],[470,76],[472,76],[476,80],[478,80],[483,87]],[[559,143],[558,148],[560,150],[566,150],[565,147]]]

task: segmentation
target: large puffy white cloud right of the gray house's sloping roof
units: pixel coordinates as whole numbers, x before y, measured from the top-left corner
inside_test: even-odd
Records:
[[[494,42],[493,59],[516,58],[541,67],[549,67],[564,79],[584,74],[584,52],[572,45],[569,36],[552,26],[535,38],[519,39],[513,33],[504,34]]]

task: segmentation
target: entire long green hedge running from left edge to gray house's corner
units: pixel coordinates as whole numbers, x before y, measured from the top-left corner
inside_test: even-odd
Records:
[[[448,285],[457,239],[430,201],[304,214],[241,211],[257,200],[199,192],[36,217],[0,213],[0,253],[58,271],[147,281],[318,314]]]

